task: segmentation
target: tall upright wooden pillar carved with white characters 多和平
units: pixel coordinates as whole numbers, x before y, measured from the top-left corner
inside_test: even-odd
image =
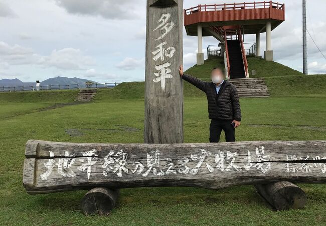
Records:
[[[183,0],[147,0],[144,143],[183,143]]]

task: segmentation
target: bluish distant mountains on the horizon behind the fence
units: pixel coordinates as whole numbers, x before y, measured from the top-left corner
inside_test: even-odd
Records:
[[[67,78],[67,77],[58,76],[56,78],[49,78],[44,81],[41,81],[41,85],[72,85],[72,84],[84,85],[85,82],[87,81],[92,81],[92,80],[76,78],[76,77]],[[98,83],[95,81],[92,82]],[[0,80],[0,86],[31,86],[35,84],[36,82],[22,82],[18,78]]]

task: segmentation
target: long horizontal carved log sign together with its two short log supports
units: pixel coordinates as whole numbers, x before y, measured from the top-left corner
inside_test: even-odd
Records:
[[[254,185],[276,209],[302,208],[293,183],[326,182],[326,141],[199,144],[87,144],[29,140],[23,184],[29,194],[89,190],[85,214],[108,214],[120,188]]]

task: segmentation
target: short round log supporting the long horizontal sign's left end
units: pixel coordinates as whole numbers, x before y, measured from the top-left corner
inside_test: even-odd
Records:
[[[107,215],[114,208],[119,189],[95,187],[89,190],[81,200],[81,209],[85,215]]]

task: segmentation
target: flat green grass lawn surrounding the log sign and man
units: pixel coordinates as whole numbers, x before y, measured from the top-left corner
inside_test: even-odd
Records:
[[[127,84],[126,85],[130,85]],[[133,88],[143,86],[132,86]],[[253,186],[220,190],[187,187],[121,189],[109,216],[84,216],[79,202],[86,191],[29,195],[22,185],[25,143],[29,139],[58,142],[143,143],[143,99],[102,90],[94,103],[39,111],[59,99],[12,103],[0,107],[0,225],[324,225],[326,187],[300,184],[308,200],[303,210],[273,211]],[[129,90],[137,94],[136,90]],[[48,94],[48,93],[46,93]],[[73,98],[66,96],[62,102]],[[31,94],[29,94],[31,95]],[[111,95],[116,95],[114,98]],[[74,93],[71,93],[74,97]],[[109,98],[110,97],[110,98]],[[45,97],[42,97],[45,98]],[[49,97],[48,97],[49,98]],[[323,94],[243,98],[237,141],[326,140]],[[185,142],[208,142],[205,96],[185,98]],[[138,130],[132,132],[125,127]],[[66,133],[74,129],[79,136]],[[222,141],[224,141],[222,134]]]

